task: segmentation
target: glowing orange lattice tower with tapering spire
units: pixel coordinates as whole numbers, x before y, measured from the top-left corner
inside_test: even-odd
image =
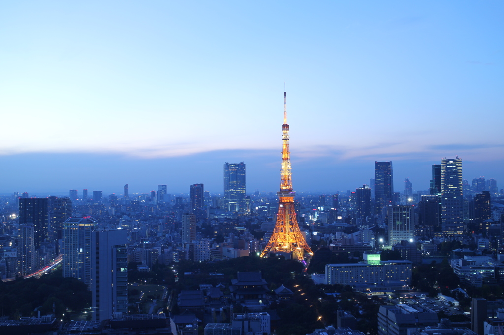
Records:
[[[290,253],[293,260],[303,261],[304,253],[313,256],[310,247],[297,225],[294,197],[292,190],[292,173],[289,151],[289,125],[287,124],[287,93],[284,92],[284,124],[282,125],[282,169],[280,170],[280,191],[277,221],[273,234],[263,250],[261,257],[269,254]]]

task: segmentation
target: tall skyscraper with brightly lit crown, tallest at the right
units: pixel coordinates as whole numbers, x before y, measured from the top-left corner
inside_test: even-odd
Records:
[[[462,211],[462,159],[441,160],[442,229],[444,235],[463,232]]]

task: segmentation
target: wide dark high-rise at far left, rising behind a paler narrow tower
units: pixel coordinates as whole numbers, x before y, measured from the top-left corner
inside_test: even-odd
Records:
[[[33,244],[40,248],[49,238],[49,215],[47,198],[19,199],[19,224],[33,227]]]

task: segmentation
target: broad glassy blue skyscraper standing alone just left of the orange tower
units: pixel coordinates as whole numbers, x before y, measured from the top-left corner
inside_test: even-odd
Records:
[[[245,163],[224,164],[224,200],[228,211],[245,211]]]

